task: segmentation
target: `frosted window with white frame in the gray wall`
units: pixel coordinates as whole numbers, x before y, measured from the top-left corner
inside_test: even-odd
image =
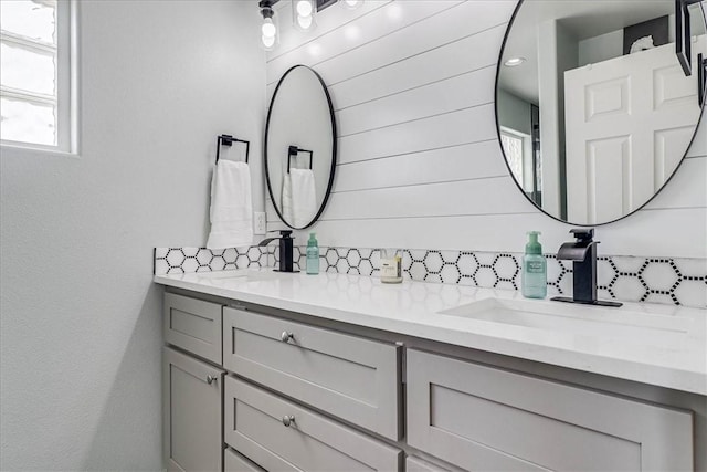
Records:
[[[75,150],[70,0],[0,1],[0,140]]]

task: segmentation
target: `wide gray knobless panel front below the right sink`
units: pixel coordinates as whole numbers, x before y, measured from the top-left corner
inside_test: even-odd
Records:
[[[408,443],[467,470],[693,470],[693,418],[414,349]]]

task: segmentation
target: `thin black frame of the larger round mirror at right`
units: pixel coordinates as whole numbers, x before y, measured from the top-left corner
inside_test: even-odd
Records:
[[[546,214],[547,217],[559,221],[560,223],[564,223],[567,225],[571,225],[571,227],[584,227],[584,228],[594,228],[594,227],[603,227],[605,224],[611,224],[611,223],[615,223],[616,221],[621,221],[624,218],[627,218],[634,213],[636,213],[637,211],[642,210],[644,207],[646,207],[648,203],[651,203],[662,191],[663,189],[665,189],[665,187],[667,187],[667,185],[671,182],[671,180],[673,180],[673,177],[675,177],[675,175],[677,174],[677,170],[680,168],[680,166],[683,165],[683,162],[685,161],[685,157],[687,156],[687,151],[689,150],[690,147],[693,147],[693,143],[695,141],[695,137],[697,136],[697,129],[699,129],[699,125],[703,122],[703,117],[705,116],[705,103],[707,102],[707,99],[705,99],[701,104],[700,104],[700,112],[699,112],[699,118],[697,119],[697,123],[695,124],[695,132],[693,133],[693,137],[689,140],[689,144],[687,145],[687,147],[685,148],[685,154],[683,155],[683,157],[680,158],[679,164],[675,167],[675,169],[673,170],[673,174],[671,174],[671,177],[668,177],[665,182],[663,182],[663,186],[655,192],[653,193],[653,197],[651,197],[650,199],[647,199],[645,201],[645,203],[643,203],[641,207],[636,208],[635,210],[631,211],[630,213],[624,214],[621,218],[616,218],[615,220],[611,220],[611,221],[605,221],[603,223],[592,223],[592,224],[584,224],[584,223],[573,223],[571,221],[564,221],[561,220],[558,217],[555,217],[550,213],[548,213],[547,211],[545,211],[541,207],[538,207],[538,204],[532,201],[532,199],[530,199],[530,197],[528,197],[528,195],[526,193],[526,191],[523,189],[523,187],[520,186],[520,183],[518,182],[518,180],[516,180],[513,177],[513,170],[510,169],[510,165],[508,164],[508,157],[506,156],[506,150],[504,149],[503,144],[500,143],[500,122],[498,120],[498,78],[500,76],[500,71],[502,67],[504,66],[503,64],[503,56],[504,56],[504,52],[506,50],[506,42],[508,41],[508,34],[510,33],[510,30],[513,29],[513,25],[516,21],[516,18],[518,15],[518,11],[520,11],[520,8],[523,7],[523,4],[526,2],[526,0],[518,0],[518,4],[516,6],[516,9],[513,11],[513,15],[510,17],[510,21],[508,22],[508,27],[506,28],[506,33],[504,34],[504,40],[500,43],[500,50],[498,51],[498,61],[496,62],[496,83],[495,83],[495,87],[494,87],[494,114],[496,117],[496,140],[498,141],[498,146],[500,147],[500,153],[504,157],[504,164],[506,165],[506,169],[508,170],[508,177],[510,177],[510,179],[514,181],[514,183],[516,185],[516,187],[518,188],[518,191],[520,191],[520,193],[523,193],[523,196],[538,210],[540,210],[540,212],[542,212],[544,214]],[[699,9],[703,13],[703,20],[705,21],[705,23],[707,24],[707,18],[705,17],[705,11],[701,7],[700,2],[697,2],[699,6]],[[679,39],[676,39],[676,41],[679,41]],[[679,65],[682,66],[682,63],[678,61]]]

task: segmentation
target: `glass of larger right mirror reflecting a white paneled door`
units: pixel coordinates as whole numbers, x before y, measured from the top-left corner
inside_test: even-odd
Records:
[[[707,41],[692,4],[686,76],[675,9],[675,0],[518,6],[498,67],[499,139],[519,188],[549,216],[618,220],[677,169],[701,114],[697,57]]]

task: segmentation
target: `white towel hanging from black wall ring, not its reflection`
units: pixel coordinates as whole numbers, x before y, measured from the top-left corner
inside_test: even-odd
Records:
[[[211,178],[211,233],[208,249],[253,244],[251,169],[242,161],[221,159]]]

